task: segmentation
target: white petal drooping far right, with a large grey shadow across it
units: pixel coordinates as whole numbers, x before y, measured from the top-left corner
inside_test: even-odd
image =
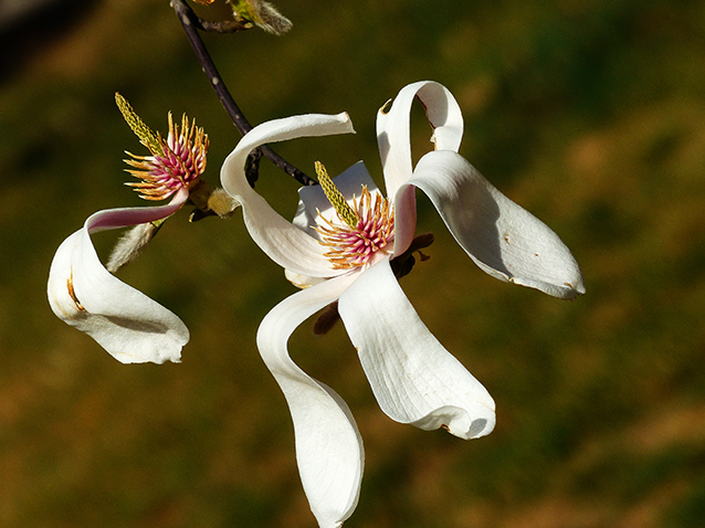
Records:
[[[580,267],[558,235],[462,156],[427,154],[409,186],[428,194],[457,243],[490,275],[565,299],[585,293]]]

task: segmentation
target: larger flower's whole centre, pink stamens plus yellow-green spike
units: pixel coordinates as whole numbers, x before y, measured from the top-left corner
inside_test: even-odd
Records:
[[[387,198],[372,193],[362,186],[359,201],[352,197],[352,205],[328,177],[325,168],[316,163],[316,172],[326,197],[333,204],[339,222],[318,217],[322,222],[314,229],[320,234],[320,243],[328,247],[325,256],[334,270],[354,270],[373,262],[375,255],[389,254],[393,249],[394,212]]]

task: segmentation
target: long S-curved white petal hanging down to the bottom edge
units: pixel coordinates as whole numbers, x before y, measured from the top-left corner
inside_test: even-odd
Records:
[[[276,305],[257,331],[257,348],[282,388],[294,422],[296,461],[320,528],[343,524],[357,506],[365,454],[348,405],[292,361],[286,342],[296,327],[355,281],[345,275],[298,292]]]

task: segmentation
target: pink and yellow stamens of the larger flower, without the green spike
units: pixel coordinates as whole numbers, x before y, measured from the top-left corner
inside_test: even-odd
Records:
[[[355,228],[343,221],[340,224],[333,223],[323,215],[319,217],[325,225],[315,228],[322,235],[320,243],[329,247],[325,256],[334,270],[362,267],[377,252],[383,251],[387,254],[392,249],[390,243],[394,240],[394,212],[389,200],[377,193],[372,203],[370,192],[367,187],[362,187],[359,203],[357,199],[352,199],[352,209],[358,217]]]

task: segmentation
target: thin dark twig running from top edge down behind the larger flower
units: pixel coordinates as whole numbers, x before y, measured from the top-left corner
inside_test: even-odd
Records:
[[[228,91],[223,78],[220,76],[215,64],[213,63],[208,49],[206,47],[206,43],[201,39],[200,33],[198,32],[199,28],[207,30],[208,25],[202,24],[200,19],[196,15],[193,10],[183,1],[183,0],[171,0],[171,7],[176,11],[179,17],[179,21],[183,27],[183,31],[186,31],[186,35],[189,39],[189,43],[193,51],[196,52],[196,56],[198,61],[201,63],[203,68],[203,73],[208,76],[208,81],[211,84],[211,87],[218,95],[220,103],[225,108],[225,112],[232,119],[233,124],[243,136],[252,130],[252,125],[245,116],[242,114],[242,110],[233,99],[232,95]],[[267,145],[262,145],[260,150],[272,161],[276,167],[282,169],[284,172],[293,177],[296,181],[298,181],[303,186],[313,186],[316,184],[316,181],[308,176],[306,176],[303,171],[294,167],[292,163],[282,158],[278,154],[272,150]]]

